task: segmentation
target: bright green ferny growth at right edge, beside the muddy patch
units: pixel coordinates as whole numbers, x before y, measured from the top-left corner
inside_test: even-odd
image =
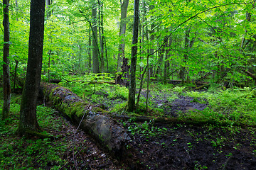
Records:
[[[208,108],[203,111],[191,111],[188,117],[198,120],[218,120],[230,123],[239,122],[247,125],[255,125],[255,96],[254,89],[227,89],[213,93],[190,93],[188,95],[198,95],[206,98]]]

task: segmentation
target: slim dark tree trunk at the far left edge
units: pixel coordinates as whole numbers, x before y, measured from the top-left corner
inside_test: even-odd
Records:
[[[4,105],[2,111],[2,120],[8,118],[10,113],[11,102],[11,84],[10,84],[10,68],[9,68],[9,50],[10,50],[10,23],[9,23],[9,0],[3,1],[4,6],[4,55],[3,55],[3,90]]]

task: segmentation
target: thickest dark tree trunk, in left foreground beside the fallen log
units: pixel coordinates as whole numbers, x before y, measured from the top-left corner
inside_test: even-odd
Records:
[[[31,0],[28,67],[21,98],[18,135],[41,130],[36,118],[36,103],[41,81],[45,0]]]

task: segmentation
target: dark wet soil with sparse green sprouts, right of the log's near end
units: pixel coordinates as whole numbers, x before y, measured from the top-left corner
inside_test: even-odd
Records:
[[[235,134],[215,127],[156,125],[163,135],[132,135],[139,169],[255,169],[254,130]],[[135,153],[135,152],[134,152]]]

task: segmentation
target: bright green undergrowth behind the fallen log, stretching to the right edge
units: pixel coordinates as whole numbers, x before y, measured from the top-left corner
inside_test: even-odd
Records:
[[[103,104],[112,113],[124,113],[127,104],[128,89],[124,86],[107,84],[110,74],[89,74],[82,77],[68,77],[63,84],[75,94],[95,104]],[[101,84],[90,84],[100,81]],[[144,85],[144,88],[146,86]],[[193,118],[194,120],[228,121],[255,125],[256,120],[256,90],[250,88],[233,88],[222,90],[219,86],[210,86],[208,91],[193,91],[189,86],[174,86],[172,84],[151,83],[149,90],[148,111],[146,111],[146,96],[141,95],[136,115],[164,115],[162,106],[175,102],[179,96],[191,97],[191,102],[208,104],[203,111],[179,112],[178,118]],[[143,89],[146,91],[145,89]],[[168,103],[156,104],[161,100]],[[163,100],[163,101],[164,101]]]

